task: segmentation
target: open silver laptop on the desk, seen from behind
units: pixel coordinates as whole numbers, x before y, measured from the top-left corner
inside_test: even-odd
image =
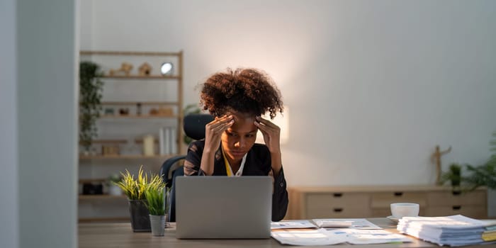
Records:
[[[176,237],[262,239],[271,235],[270,176],[176,177]]]

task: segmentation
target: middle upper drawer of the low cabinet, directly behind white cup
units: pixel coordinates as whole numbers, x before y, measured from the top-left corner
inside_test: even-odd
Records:
[[[421,192],[391,191],[371,195],[371,208],[390,209],[391,203],[418,203],[420,208],[427,205],[425,193]]]

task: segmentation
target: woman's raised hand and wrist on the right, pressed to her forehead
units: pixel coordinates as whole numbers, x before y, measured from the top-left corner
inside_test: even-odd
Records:
[[[278,175],[283,167],[281,162],[281,145],[279,142],[281,128],[260,116],[257,116],[255,119],[254,124],[259,128],[261,134],[264,135],[265,145],[269,148],[269,152],[271,152],[272,172],[274,172],[274,175]],[[271,176],[274,178],[274,175]]]

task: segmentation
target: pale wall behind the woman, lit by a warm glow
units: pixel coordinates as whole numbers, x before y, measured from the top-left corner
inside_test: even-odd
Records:
[[[288,185],[434,184],[496,130],[496,1],[92,1],[82,49],[185,52],[185,102],[259,67],[291,108]],[[81,38],[81,40],[84,38]]]

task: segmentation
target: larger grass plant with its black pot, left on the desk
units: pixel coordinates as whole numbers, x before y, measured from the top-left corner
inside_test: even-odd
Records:
[[[157,191],[163,188],[164,183],[158,174],[150,174],[150,178],[144,173],[142,167],[138,171],[137,178],[126,169],[125,174],[120,173],[123,179],[116,183],[126,196],[128,196],[129,213],[133,232],[150,232],[150,213],[146,205],[145,192]]]

